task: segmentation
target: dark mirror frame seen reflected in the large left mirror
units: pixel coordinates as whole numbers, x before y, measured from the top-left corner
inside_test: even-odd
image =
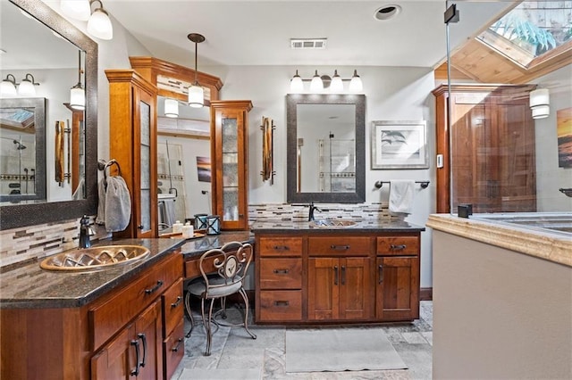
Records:
[[[0,202],[21,202],[32,199],[46,201],[46,98],[43,97],[12,97],[0,99],[0,108],[33,108],[35,148],[36,148],[36,182],[35,194],[0,194]],[[13,207],[13,206],[11,206]],[[2,221],[4,224],[4,220]]]

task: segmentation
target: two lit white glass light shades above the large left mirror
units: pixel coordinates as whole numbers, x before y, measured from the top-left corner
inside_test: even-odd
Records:
[[[91,12],[91,4],[96,2],[99,6]],[[62,0],[60,8],[72,19],[88,21],[88,33],[93,37],[106,40],[114,37],[114,27],[101,0]]]

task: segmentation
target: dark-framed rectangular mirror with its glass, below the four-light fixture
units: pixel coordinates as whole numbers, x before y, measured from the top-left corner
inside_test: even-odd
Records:
[[[288,202],[366,201],[366,95],[287,95]]]

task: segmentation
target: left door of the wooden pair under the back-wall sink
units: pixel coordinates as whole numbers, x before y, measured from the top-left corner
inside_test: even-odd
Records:
[[[339,319],[340,259],[309,258],[307,267],[307,318]]]

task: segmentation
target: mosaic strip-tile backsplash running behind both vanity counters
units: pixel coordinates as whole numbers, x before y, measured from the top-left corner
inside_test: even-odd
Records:
[[[388,203],[320,203],[315,219],[393,219]],[[257,220],[307,220],[308,207],[290,203],[265,203],[248,205],[248,221]],[[80,219],[61,223],[41,224],[0,231],[0,268],[9,270],[17,264],[41,260],[51,254],[63,252],[78,244]],[[96,236],[106,237],[96,229]]]

